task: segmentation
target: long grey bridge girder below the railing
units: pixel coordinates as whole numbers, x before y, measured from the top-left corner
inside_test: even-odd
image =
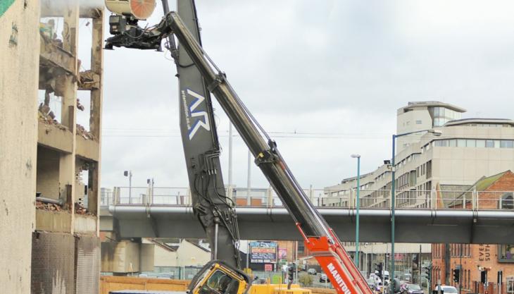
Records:
[[[121,238],[204,238],[192,207],[144,205],[111,206],[109,216],[118,221]],[[355,240],[355,210],[320,208],[319,212],[342,241]],[[237,207],[242,240],[301,240],[294,221],[284,208]],[[155,219],[153,226],[150,217]],[[102,218],[102,216],[101,216]],[[391,241],[389,209],[361,209],[361,242]],[[115,226],[112,226],[115,228]],[[153,228],[158,228],[154,233]],[[398,243],[513,243],[514,212],[505,210],[396,211]],[[272,229],[270,229],[272,228]]]

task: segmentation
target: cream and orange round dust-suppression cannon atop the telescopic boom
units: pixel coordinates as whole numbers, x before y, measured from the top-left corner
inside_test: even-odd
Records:
[[[106,0],[106,7],[113,13],[145,20],[156,8],[156,0]]]

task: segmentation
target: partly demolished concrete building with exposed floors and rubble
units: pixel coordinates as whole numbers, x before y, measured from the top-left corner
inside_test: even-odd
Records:
[[[0,4],[5,293],[99,290],[104,10],[81,3]]]

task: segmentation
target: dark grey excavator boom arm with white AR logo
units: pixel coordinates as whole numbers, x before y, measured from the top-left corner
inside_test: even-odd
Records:
[[[194,1],[177,1],[177,13],[200,43]],[[181,46],[175,51],[173,41],[173,36],[169,35],[168,46],[172,56],[175,55],[179,77],[180,133],[194,212],[213,249],[212,259],[223,259],[239,268],[237,217],[232,200],[225,195],[211,95],[184,48]]]

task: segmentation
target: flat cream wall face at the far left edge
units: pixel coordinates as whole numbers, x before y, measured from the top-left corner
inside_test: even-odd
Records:
[[[0,15],[1,293],[30,293],[37,168],[38,26],[39,1],[14,1]]]

